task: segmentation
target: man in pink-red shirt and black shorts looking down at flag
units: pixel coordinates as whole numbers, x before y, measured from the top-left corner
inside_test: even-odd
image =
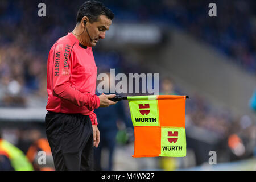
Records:
[[[92,169],[93,146],[100,142],[93,111],[116,104],[109,100],[115,94],[95,94],[97,66],[92,47],[105,38],[113,18],[102,3],[83,3],[75,29],[49,51],[46,134],[56,170]]]

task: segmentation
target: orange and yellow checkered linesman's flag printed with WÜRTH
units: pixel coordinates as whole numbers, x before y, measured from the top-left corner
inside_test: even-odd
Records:
[[[186,156],[186,96],[127,97],[134,126],[133,157]]]

